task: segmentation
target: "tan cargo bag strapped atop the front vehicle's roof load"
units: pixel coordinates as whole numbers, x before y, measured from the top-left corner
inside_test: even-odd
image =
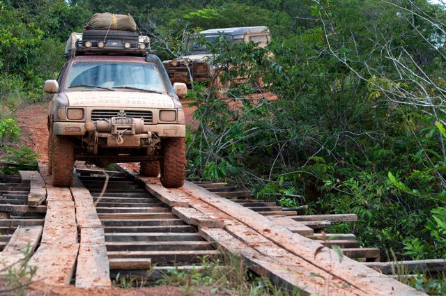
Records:
[[[130,15],[115,15],[114,13],[95,13],[84,26],[87,30],[121,30],[137,31],[137,24]]]

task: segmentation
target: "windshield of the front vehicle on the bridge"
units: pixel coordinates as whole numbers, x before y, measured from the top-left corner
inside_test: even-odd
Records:
[[[160,72],[154,64],[114,61],[73,63],[68,73],[66,88],[166,92]]]

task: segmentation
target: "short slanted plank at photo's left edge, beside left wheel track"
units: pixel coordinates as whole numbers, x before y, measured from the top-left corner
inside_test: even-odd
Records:
[[[33,255],[42,236],[42,231],[42,226],[17,226],[0,253],[0,263],[8,266],[20,262],[25,258],[26,251],[29,251],[29,256]]]

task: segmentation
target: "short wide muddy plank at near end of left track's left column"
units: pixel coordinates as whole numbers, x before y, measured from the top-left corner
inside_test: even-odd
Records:
[[[75,270],[79,244],[40,244],[29,260],[36,266],[33,281],[52,286],[68,286]]]

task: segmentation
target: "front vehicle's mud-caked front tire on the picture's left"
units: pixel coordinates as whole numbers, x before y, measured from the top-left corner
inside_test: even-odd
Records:
[[[53,186],[70,187],[72,185],[72,168],[75,164],[72,139],[54,134],[52,139]]]

